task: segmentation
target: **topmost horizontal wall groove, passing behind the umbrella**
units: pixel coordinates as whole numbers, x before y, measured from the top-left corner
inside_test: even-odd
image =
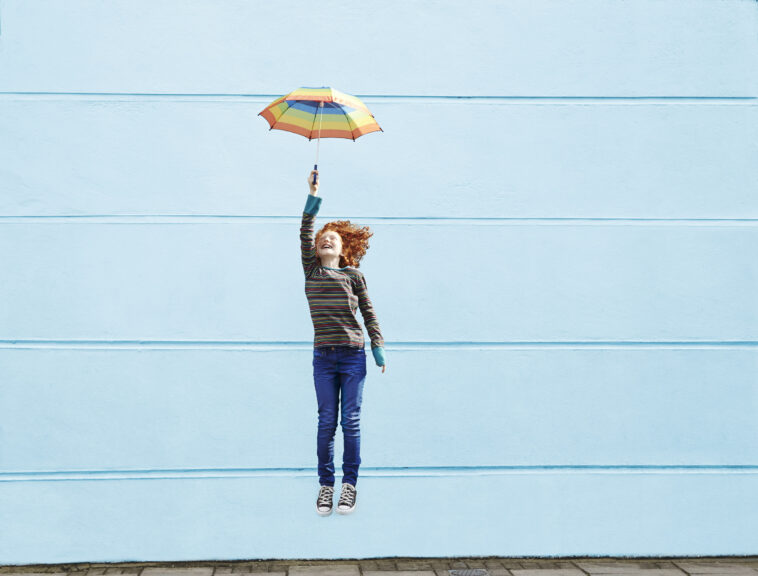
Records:
[[[233,93],[152,93],[152,92],[0,92],[0,100],[112,100],[112,101],[135,101],[135,100],[188,100],[206,102],[262,102],[268,103],[282,94],[233,94]],[[539,95],[453,95],[453,94],[355,94],[367,104],[380,102],[405,102],[422,103],[429,102],[468,104],[745,104],[758,100],[758,95],[746,94],[744,96],[688,96],[688,95],[648,95],[648,96],[539,96]]]

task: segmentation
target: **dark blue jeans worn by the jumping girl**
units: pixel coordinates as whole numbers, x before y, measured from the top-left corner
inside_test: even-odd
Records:
[[[334,434],[337,410],[341,412],[342,482],[356,485],[361,464],[361,402],[366,381],[366,351],[352,346],[313,349],[313,382],[318,401],[318,478],[322,486],[334,486]]]

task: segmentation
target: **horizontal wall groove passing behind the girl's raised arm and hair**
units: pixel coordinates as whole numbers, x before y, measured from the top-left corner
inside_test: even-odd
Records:
[[[471,218],[471,217],[440,217],[440,216],[351,216],[348,214],[319,215],[319,218],[347,218],[375,224],[398,225],[467,225],[467,226],[503,226],[503,225],[538,225],[538,226],[756,226],[758,218]],[[71,214],[55,216],[7,216],[0,215],[0,224],[42,223],[53,224],[75,221],[83,224],[232,224],[232,223],[264,223],[264,224],[299,224],[301,216],[253,216],[240,214]]]

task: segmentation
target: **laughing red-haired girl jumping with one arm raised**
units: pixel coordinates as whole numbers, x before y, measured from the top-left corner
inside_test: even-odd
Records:
[[[313,176],[316,183],[313,184]],[[366,279],[358,270],[360,259],[368,250],[373,234],[367,226],[359,228],[349,220],[337,220],[324,225],[313,240],[313,221],[321,198],[318,193],[318,171],[308,177],[310,194],[305,203],[300,226],[300,253],[305,272],[305,295],[313,320],[313,380],[318,401],[319,493],[316,512],[321,516],[332,513],[334,494],[334,433],[337,430],[337,409],[342,395],[342,492],[337,512],[349,514],[355,509],[358,466],[361,463],[360,414],[363,383],[366,380],[366,351],[363,330],[356,318],[361,310],[366,330],[371,338],[371,352],[382,373],[384,339],[379,322],[368,297]]]

